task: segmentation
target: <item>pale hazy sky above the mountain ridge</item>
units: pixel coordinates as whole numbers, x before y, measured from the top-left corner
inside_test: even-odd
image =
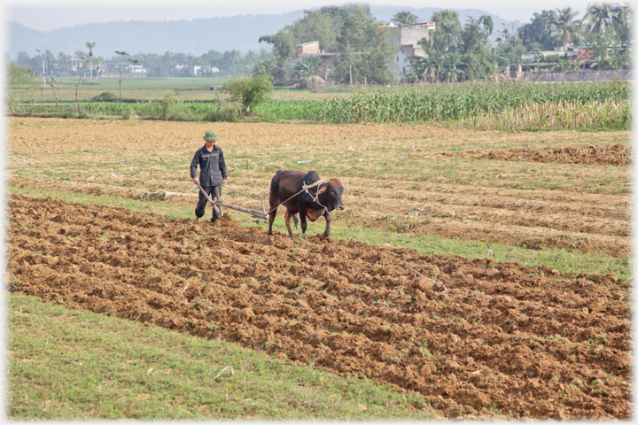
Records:
[[[50,30],[60,27],[74,27],[90,22],[113,20],[180,20],[213,18],[261,13],[284,13],[295,10],[321,7],[331,4],[368,3],[397,4],[413,8],[440,7],[450,9],[480,9],[494,13],[502,19],[529,22],[533,12],[571,6],[582,17],[587,4],[592,0],[536,0],[532,2],[512,0],[375,0],[329,1],[329,0],[111,0],[95,3],[90,0],[8,0],[3,5],[3,20],[15,20],[36,30]],[[624,3],[624,2],[623,2]],[[53,6],[52,4],[55,4]],[[179,4],[179,5],[175,5]]]

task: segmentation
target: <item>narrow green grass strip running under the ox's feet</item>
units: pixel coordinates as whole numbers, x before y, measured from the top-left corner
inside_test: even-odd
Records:
[[[10,187],[7,190],[11,193],[22,194],[29,197],[50,196],[65,200],[66,202],[117,206],[138,212],[158,213],[173,218],[192,219],[194,217],[194,205],[171,205],[154,201],[140,202],[135,199],[90,196],[53,189],[49,189],[47,193],[43,193],[41,190],[18,189],[15,187]],[[255,226],[252,217],[248,214],[233,212],[231,215],[244,226]],[[207,214],[206,217],[208,217]],[[320,220],[318,223],[319,224],[308,223],[308,235],[314,235],[315,232],[323,232],[323,220]],[[261,222],[257,224],[257,226],[267,229],[268,223]],[[284,234],[288,233],[283,218],[275,220],[273,228]],[[300,234],[300,230],[297,230],[295,233]],[[561,273],[615,274],[622,282],[627,282],[631,279],[631,259],[603,256],[600,254],[593,255],[566,250],[537,251],[503,243],[463,241],[424,234],[408,235],[374,228],[341,228],[338,226],[338,221],[333,221],[332,223],[331,237],[344,239],[346,241],[357,240],[375,245],[387,244],[395,248],[411,248],[426,254],[454,254],[466,259],[489,258],[499,262],[516,262],[525,267],[534,267],[544,264],[547,267],[556,268],[556,270]]]

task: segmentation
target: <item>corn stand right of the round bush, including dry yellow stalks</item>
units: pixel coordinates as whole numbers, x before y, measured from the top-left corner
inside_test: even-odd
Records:
[[[630,96],[630,87],[625,82],[449,84],[370,90],[321,101],[270,100],[261,104],[258,112],[265,120],[339,124],[463,120],[472,126],[489,128],[628,129]],[[516,111],[523,107],[527,108],[525,116],[518,116]],[[543,120],[548,114],[564,118]]]

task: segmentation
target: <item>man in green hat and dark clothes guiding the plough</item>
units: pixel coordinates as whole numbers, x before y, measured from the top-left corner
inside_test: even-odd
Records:
[[[206,140],[206,144],[195,152],[191,161],[191,178],[193,183],[199,184],[206,191],[206,194],[214,199],[218,196],[217,191],[219,191],[219,197],[222,197],[222,186],[226,186],[226,162],[223,159],[222,148],[215,146],[215,142],[219,140],[217,133],[213,130],[206,131],[204,140]],[[198,166],[199,177],[197,176]],[[195,216],[198,221],[201,221],[204,216],[206,202],[206,197],[200,190],[199,202],[195,208]],[[219,214],[215,210],[216,208],[213,208],[213,218],[211,219],[213,222],[219,219]]]

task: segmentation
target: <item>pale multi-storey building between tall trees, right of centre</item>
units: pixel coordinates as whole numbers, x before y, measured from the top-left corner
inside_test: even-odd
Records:
[[[398,73],[395,74],[397,81],[409,72],[410,58],[425,58],[423,47],[419,44],[422,40],[427,40],[430,31],[436,29],[436,22],[420,22],[417,24],[385,24],[383,27],[393,36],[393,41],[397,46],[396,65]]]

